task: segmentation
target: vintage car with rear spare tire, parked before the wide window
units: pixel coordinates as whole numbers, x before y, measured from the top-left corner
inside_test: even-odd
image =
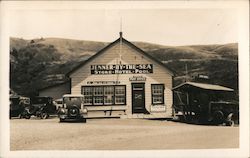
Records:
[[[60,122],[74,120],[86,123],[87,113],[83,105],[83,95],[63,95],[62,107],[58,110]]]

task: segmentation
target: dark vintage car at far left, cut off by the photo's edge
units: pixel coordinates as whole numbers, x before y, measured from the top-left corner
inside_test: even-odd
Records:
[[[30,98],[19,95],[10,96],[10,118],[22,118],[25,107],[30,105]]]

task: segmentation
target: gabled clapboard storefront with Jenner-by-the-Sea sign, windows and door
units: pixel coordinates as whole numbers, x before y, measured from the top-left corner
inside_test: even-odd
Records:
[[[84,95],[90,117],[173,115],[173,73],[122,34],[68,76],[71,93]]]

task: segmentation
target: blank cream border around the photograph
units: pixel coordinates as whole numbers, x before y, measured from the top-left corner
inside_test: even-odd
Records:
[[[232,1],[1,1],[0,8],[0,117],[1,157],[248,157],[249,156],[249,2]],[[192,150],[83,150],[10,151],[9,125],[9,11],[18,9],[171,9],[228,8],[238,10],[240,147]]]

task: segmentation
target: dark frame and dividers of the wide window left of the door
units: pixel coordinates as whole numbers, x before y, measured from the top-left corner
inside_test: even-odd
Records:
[[[115,102],[115,98],[116,98],[116,87],[119,87],[119,86],[122,86],[124,87],[124,103],[121,103],[121,104],[116,104]],[[92,95],[87,95],[88,97],[91,96],[91,99],[92,99],[92,103],[84,103],[84,105],[86,106],[111,106],[111,105],[126,105],[127,104],[127,91],[126,91],[126,85],[96,85],[96,86],[81,86],[81,94],[84,95],[84,88],[85,87],[90,87],[91,88],[91,92],[92,92]],[[101,104],[95,104],[94,103],[94,87],[101,87],[102,88],[102,100],[103,102]],[[105,98],[105,92],[104,92],[104,87],[113,87],[113,94],[112,94],[112,103],[108,103],[106,104],[105,101],[104,101],[104,98]],[[85,95],[84,95],[85,96]],[[117,96],[120,96],[120,95],[117,95]]]

